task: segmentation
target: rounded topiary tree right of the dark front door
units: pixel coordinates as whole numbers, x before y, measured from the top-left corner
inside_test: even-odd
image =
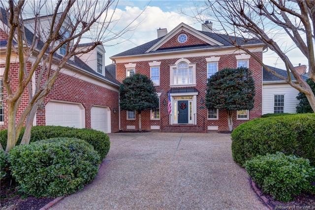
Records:
[[[232,111],[254,107],[255,86],[248,68],[224,68],[208,79],[207,108],[225,109],[229,130],[233,129]]]

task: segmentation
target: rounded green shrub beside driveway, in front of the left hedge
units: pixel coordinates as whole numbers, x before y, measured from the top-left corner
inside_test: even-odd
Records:
[[[99,155],[86,141],[55,138],[20,145],[9,152],[19,190],[36,197],[76,192],[94,180]]]

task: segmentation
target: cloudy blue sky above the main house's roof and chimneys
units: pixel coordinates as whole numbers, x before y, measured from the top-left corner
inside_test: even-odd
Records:
[[[136,19],[134,25],[137,27],[124,34],[120,39],[106,43],[106,64],[110,64],[112,61],[110,56],[121,53],[137,45],[151,41],[157,38],[158,28],[167,28],[168,31],[174,29],[181,22],[187,25],[201,30],[201,24],[194,18],[189,17],[196,7],[204,5],[203,0],[121,0],[115,11],[115,19],[117,22],[117,30],[120,27],[126,26],[131,20],[134,20],[141,12],[140,17]],[[183,11],[185,14],[183,14]],[[186,15],[188,14],[188,15]],[[213,27],[219,27],[219,23],[213,23]],[[286,35],[278,37],[282,46],[292,45]],[[122,43],[121,43],[122,42]],[[119,43],[119,44],[117,44]],[[294,65],[307,64],[306,58],[298,49],[292,49],[287,53],[287,56],[292,60]],[[278,56],[272,51],[264,53],[263,60],[266,64],[284,68],[284,63],[278,58]]]

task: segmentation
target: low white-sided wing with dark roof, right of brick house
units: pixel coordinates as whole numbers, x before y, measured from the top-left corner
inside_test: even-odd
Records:
[[[287,77],[286,70],[272,66],[268,67],[278,74]],[[305,76],[306,65],[295,68],[303,75],[305,80],[308,78]],[[291,75],[291,77],[292,81],[295,81],[294,76]],[[296,99],[298,93],[298,90],[263,68],[262,114],[295,113],[296,105],[299,103],[299,100]]]

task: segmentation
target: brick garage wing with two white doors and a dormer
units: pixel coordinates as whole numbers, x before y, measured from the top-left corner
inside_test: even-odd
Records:
[[[41,17],[44,21],[51,16]],[[33,33],[33,19],[26,20],[25,33],[28,42],[31,43]],[[7,127],[7,105],[4,98],[6,92],[3,89],[1,75],[3,75],[6,39],[3,32],[6,27],[6,13],[0,8],[0,129]],[[67,29],[64,26],[64,29]],[[40,49],[42,41],[38,43]],[[79,45],[79,48],[87,47],[89,43]],[[64,55],[61,48],[55,58]],[[115,79],[114,64],[105,66],[105,49],[102,45],[84,55],[74,56],[65,64],[54,88],[46,96],[38,109],[34,125],[62,125],[78,128],[94,128],[106,133],[119,131],[119,82]],[[31,58],[28,63],[32,62]],[[11,56],[10,79],[17,81],[19,66],[18,57]],[[37,77],[37,76],[36,76]],[[34,81],[33,81],[34,82]],[[33,83],[32,83],[33,84]],[[34,85],[33,87],[34,88]],[[18,114],[21,114],[28,104],[28,92],[25,90]]]

